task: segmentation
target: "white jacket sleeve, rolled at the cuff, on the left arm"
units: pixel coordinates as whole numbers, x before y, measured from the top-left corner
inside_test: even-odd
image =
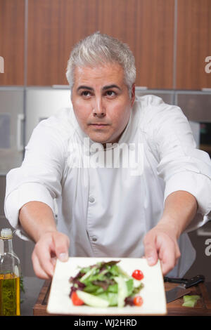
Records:
[[[41,121],[25,147],[23,164],[6,176],[4,211],[15,233],[28,239],[20,226],[19,211],[27,202],[38,201],[51,207],[61,194],[64,146],[60,132],[51,125],[52,119]]]

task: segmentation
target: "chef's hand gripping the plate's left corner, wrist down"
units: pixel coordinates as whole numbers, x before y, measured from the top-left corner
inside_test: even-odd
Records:
[[[68,260],[70,240],[67,235],[58,232],[45,232],[34,246],[32,263],[35,275],[41,279],[53,277],[56,258]]]

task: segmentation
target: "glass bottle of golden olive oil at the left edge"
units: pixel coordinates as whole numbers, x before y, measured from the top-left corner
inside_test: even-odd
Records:
[[[0,316],[20,315],[20,260],[13,251],[13,233],[0,234]]]

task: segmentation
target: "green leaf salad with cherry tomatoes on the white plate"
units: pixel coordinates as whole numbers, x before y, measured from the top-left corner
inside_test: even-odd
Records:
[[[75,277],[70,277],[72,284],[70,298],[73,305],[92,307],[124,307],[125,305],[141,306],[143,299],[139,291],[143,288],[143,273],[134,270],[127,275],[117,265],[120,260],[100,262],[86,268],[80,268]]]

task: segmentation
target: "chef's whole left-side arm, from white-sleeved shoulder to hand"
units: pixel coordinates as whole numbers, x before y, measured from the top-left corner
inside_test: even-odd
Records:
[[[25,147],[23,163],[6,176],[6,218],[20,238],[35,242],[34,272],[44,279],[52,277],[55,257],[68,253],[69,239],[56,230],[52,211],[53,199],[62,194],[68,129],[58,117],[40,121]]]

